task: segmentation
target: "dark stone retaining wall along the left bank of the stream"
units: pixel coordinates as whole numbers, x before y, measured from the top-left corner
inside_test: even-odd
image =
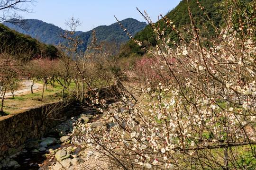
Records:
[[[27,139],[41,138],[56,125],[56,119],[65,119],[70,112],[73,112],[70,107],[56,102],[0,117],[0,158],[8,156],[11,148],[18,148]]]

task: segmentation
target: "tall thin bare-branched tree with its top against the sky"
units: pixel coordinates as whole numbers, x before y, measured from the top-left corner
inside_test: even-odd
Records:
[[[79,19],[76,20],[74,17],[72,17],[69,21],[66,22],[66,26],[69,27],[69,30],[67,30],[65,34],[60,35],[60,37],[67,40],[67,45],[60,45],[60,49],[62,49],[63,51],[62,53],[63,57],[61,58],[65,60],[70,58],[73,59],[76,66],[78,66],[80,69],[79,74],[77,74],[78,73],[77,70],[75,71],[75,73],[73,73],[73,75],[75,75],[74,76],[75,78],[73,80],[77,85],[77,97],[80,98],[80,101],[82,102],[84,100],[86,88],[85,88],[85,83],[82,80],[80,74],[82,74],[83,77],[86,77],[86,80],[89,84],[95,79],[97,79],[97,76],[95,75],[95,71],[94,71],[95,62],[93,62],[94,59],[92,59],[92,57],[95,56],[94,54],[97,53],[97,51],[95,51],[95,48],[97,48],[97,45],[94,44],[95,48],[94,47],[87,48],[85,52],[80,51],[79,46],[81,46],[83,42],[79,39],[79,36],[75,35],[76,27],[80,26]],[[94,42],[94,39],[93,39],[93,42]],[[65,70],[67,70],[66,69],[67,67],[70,68],[70,66],[68,66],[68,63],[64,65],[65,65]],[[69,74],[70,73],[71,73],[71,70],[69,71]],[[80,83],[82,84],[81,90],[80,90]],[[87,86],[87,88],[89,87]]]

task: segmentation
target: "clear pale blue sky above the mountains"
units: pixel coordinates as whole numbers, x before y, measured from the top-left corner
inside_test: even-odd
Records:
[[[157,16],[165,15],[181,0],[37,0],[32,13],[20,13],[24,19],[39,19],[67,29],[65,22],[74,17],[82,22],[77,31],[89,31],[97,26],[109,26],[116,21],[114,15],[123,20],[128,17],[145,21],[136,7],[146,10],[153,22]]]

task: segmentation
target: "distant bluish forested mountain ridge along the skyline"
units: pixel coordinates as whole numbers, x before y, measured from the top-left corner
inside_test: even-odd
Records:
[[[9,23],[5,23],[11,29],[17,30],[20,33],[30,35],[33,38],[36,38],[39,42],[44,42],[46,44],[57,45],[59,43],[65,43],[65,40],[59,37],[59,34],[64,33],[64,30],[54,26],[53,24],[47,24],[43,21],[37,19],[26,19],[27,22],[27,30],[19,28]],[[146,26],[145,22],[139,22],[133,18],[127,18],[121,21],[121,23],[129,30],[130,34],[134,36],[141,30],[143,30]],[[125,34],[122,28],[118,23],[114,23],[110,26],[98,26],[94,28],[96,32],[96,37],[98,41],[116,41],[117,43],[125,43],[129,40],[129,36]],[[92,40],[92,30],[88,32],[76,32],[79,35],[80,39],[84,42],[80,49],[82,51],[86,50],[88,42]]]

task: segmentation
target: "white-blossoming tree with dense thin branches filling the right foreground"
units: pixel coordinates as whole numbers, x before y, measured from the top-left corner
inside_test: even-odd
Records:
[[[115,110],[96,96],[92,102],[101,104],[99,110],[116,125],[95,131],[78,123],[73,142],[95,146],[112,166],[125,170],[255,169],[254,14],[240,20],[239,27],[228,16],[227,26],[215,27],[216,37],[210,39],[201,37],[189,9],[191,26],[186,34],[192,35],[190,41],[162,17],[180,37],[172,46],[167,45],[171,40],[161,37],[165,30],[145,17],[158,34],[156,50],[148,52],[173,81],[154,84],[154,88],[148,81],[141,85],[142,102],[124,95],[125,106]]]

